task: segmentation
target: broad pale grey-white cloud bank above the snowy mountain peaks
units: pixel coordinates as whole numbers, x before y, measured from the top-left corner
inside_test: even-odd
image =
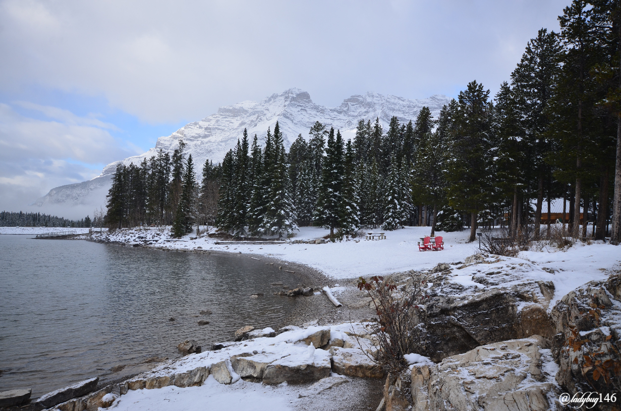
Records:
[[[178,122],[296,86],[335,106],[355,93],[497,89],[568,0],[0,0],[0,89],[104,96]]]

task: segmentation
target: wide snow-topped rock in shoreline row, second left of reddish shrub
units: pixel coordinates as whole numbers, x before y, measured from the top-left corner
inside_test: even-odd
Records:
[[[309,382],[330,376],[330,354],[324,350],[302,350],[278,359],[263,371],[265,384]]]

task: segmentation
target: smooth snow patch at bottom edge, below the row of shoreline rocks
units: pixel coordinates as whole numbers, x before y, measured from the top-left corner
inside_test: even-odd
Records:
[[[203,411],[203,410],[253,410],[288,411],[297,400],[297,390],[283,386],[266,386],[256,382],[237,381],[224,385],[209,376],[200,387],[128,391],[116,400],[117,411]]]

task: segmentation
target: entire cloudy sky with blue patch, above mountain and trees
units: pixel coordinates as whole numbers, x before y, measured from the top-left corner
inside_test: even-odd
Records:
[[[495,93],[568,2],[0,0],[0,210],[291,87]]]

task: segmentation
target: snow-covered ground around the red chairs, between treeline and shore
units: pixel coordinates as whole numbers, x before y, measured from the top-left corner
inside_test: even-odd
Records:
[[[314,240],[327,235],[328,230],[320,227],[302,227],[294,240]],[[444,233],[444,250],[419,251],[420,237],[429,235],[430,227],[406,227],[386,232],[385,240],[355,240],[314,244],[216,244],[217,238],[199,237],[190,240],[187,235],[179,240],[170,238],[168,228],[150,230],[117,230],[114,233],[95,238],[106,238],[113,242],[132,245],[145,244],[171,250],[227,251],[230,253],[252,253],[271,256],[283,261],[306,264],[335,280],[358,278],[359,276],[382,275],[431,269],[438,263],[463,263],[466,257],[480,253],[478,241],[468,243],[468,230]],[[502,257],[502,261],[486,265],[486,270],[509,272],[509,282],[501,286],[511,286],[523,280],[552,281],[555,295],[550,309],[558,299],[585,282],[605,279],[607,270],[620,269],[621,248],[607,243],[596,242],[591,245],[578,242],[568,250],[539,247],[542,251],[522,251],[517,258]],[[489,258],[489,261],[494,258]],[[466,287],[481,286],[473,281],[473,276],[481,272],[481,266],[469,266],[453,271],[453,280]],[[338,294],[340,289],[334,290]]]

